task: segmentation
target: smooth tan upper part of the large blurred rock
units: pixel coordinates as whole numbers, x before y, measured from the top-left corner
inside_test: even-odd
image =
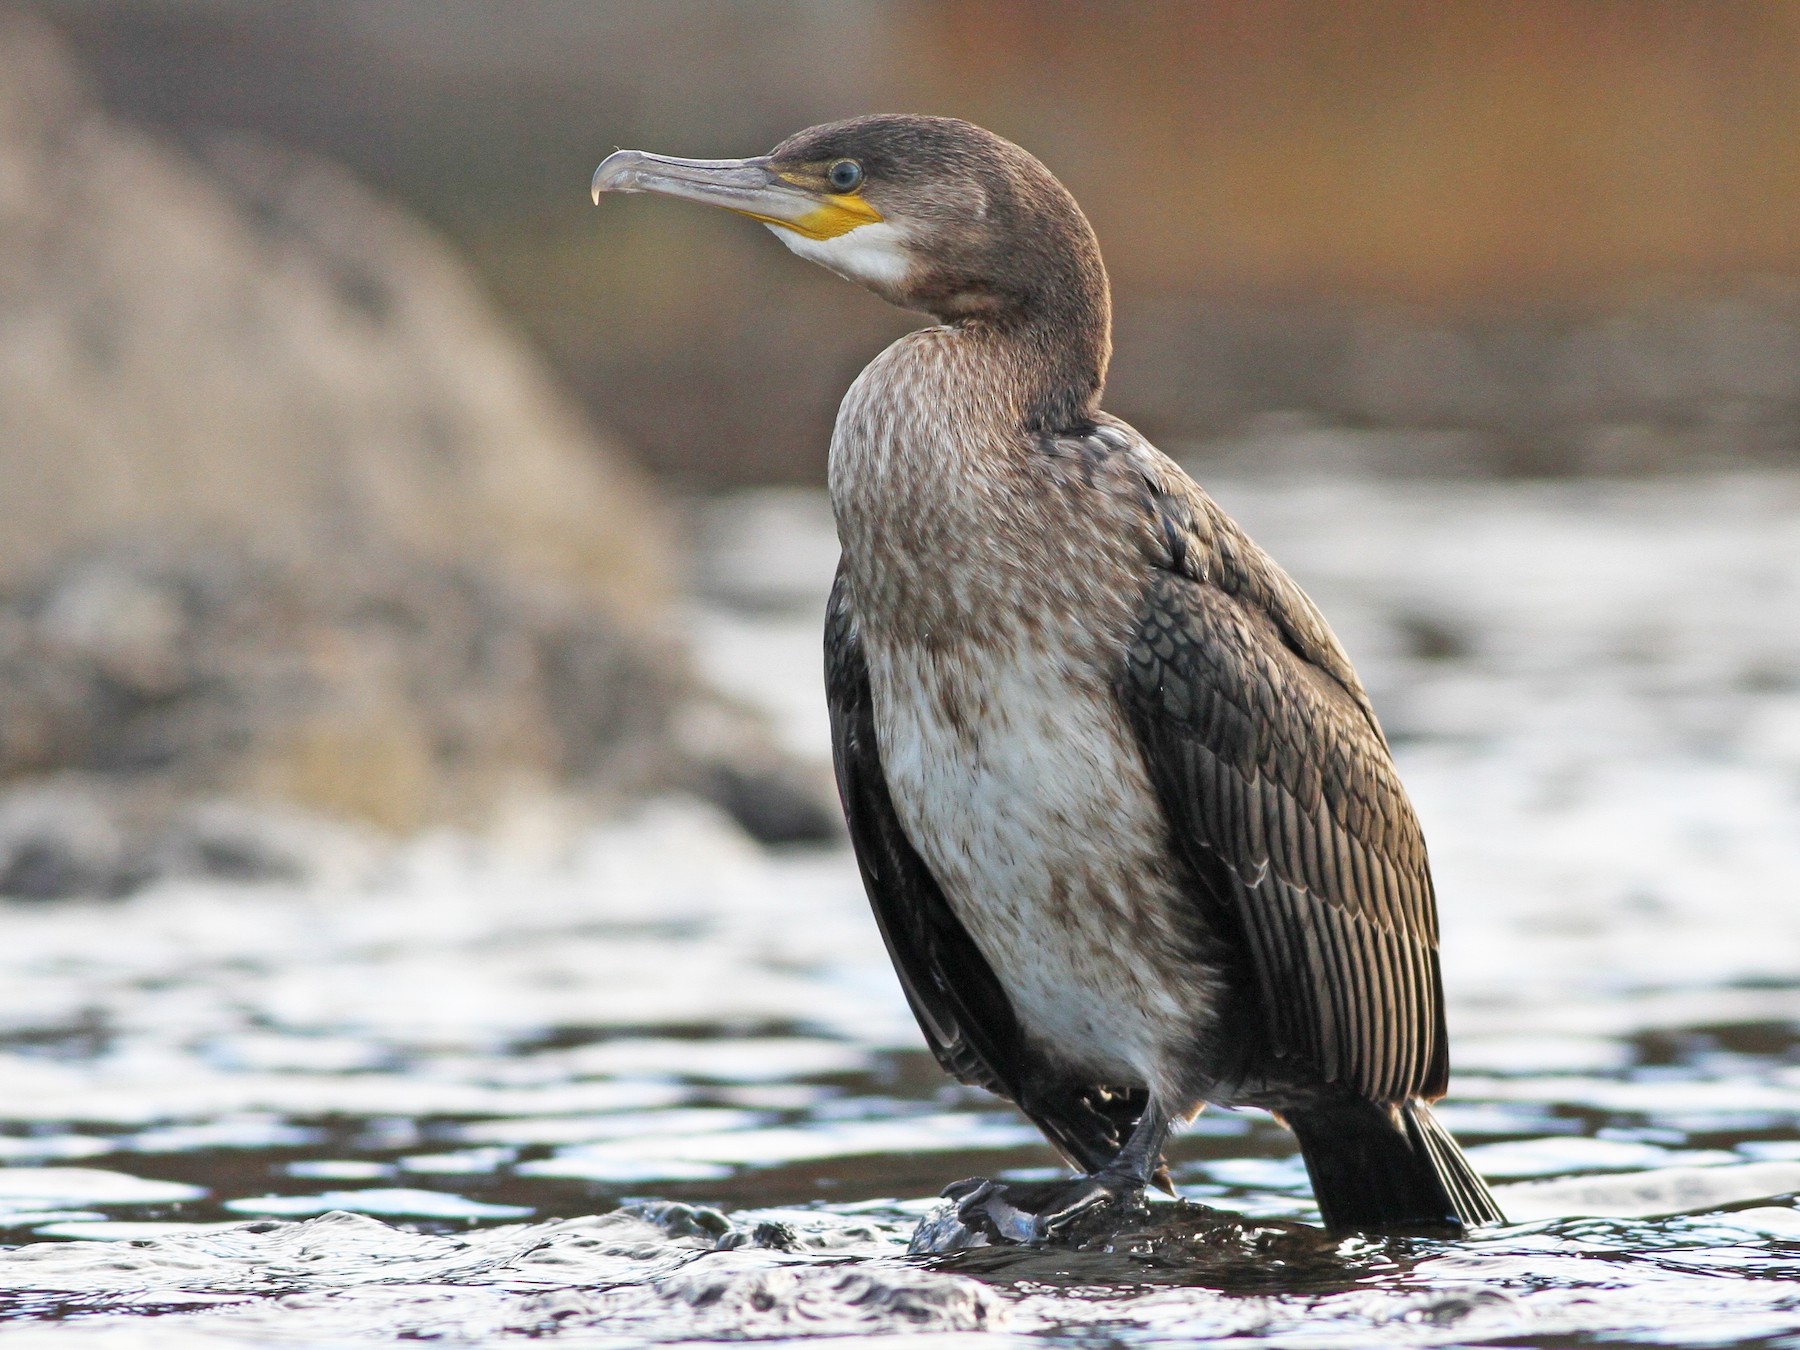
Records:
[[[405,545],[623,614],[662,513],[423,227],[338,169],[101,113],[0,20],[0,581],[121,527]]]

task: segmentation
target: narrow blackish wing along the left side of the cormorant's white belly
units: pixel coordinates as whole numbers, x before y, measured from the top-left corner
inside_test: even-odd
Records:
[[[932,1055],[959,1082],[1015,1102],[1071,1163],[1098,1170],[1118,1154],[1143,1112],[1145,1093],[1069,1084],[1053,1073],[1026,1040],[994,968],[907,841],[887,796],[869,668],[842,569],[824,619],[824,688],[837,792],[862,886]]]

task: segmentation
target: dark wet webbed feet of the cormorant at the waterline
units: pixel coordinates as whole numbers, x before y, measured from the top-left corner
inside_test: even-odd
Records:
[[[1116,1224],[1143,1204],[1143,1183],[1109,1172],[1069,1181],[999,1183],[968,1177],[945,1186],[950,1201],[920,1220],[907,1251],[967,1251],[997,1242],[1035,1246]]]

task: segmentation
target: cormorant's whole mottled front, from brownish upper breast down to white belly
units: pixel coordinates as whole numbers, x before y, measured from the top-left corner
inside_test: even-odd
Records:
[[[1208,1017],[1206,970],[1111,689],[1136,545],[1105,502],[1071,511],[965,344],[902,338],[832,443],[882,767],[1026,1033],[1093,1082],[1192,1105],[1177,1060]]]

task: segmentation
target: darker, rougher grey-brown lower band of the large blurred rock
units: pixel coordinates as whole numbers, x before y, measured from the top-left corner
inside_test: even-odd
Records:
[[[4,779],[158,778],[412,830],[533,781],[671,785],[684,697],[673,652],[572,592],[412,553],[119,542],[0,605]]]

